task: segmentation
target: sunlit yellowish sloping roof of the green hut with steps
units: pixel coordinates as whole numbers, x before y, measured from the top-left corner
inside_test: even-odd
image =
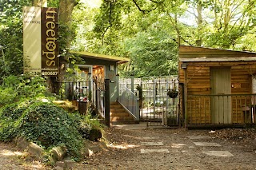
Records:
[[[129,62],[130,59],[126,57],[117,57],[117,56],[110,56],[110,55],[104,55],[100,53],[89,53],[86,51],[72,51],[72,53],[78,53],[82,55],[82,57],[90,57],[90,58],[95,58],[95,59],[100,59],[100,60],[106,60],[106,61],[116,61],[118,63],[124,63],[124,62]]]

